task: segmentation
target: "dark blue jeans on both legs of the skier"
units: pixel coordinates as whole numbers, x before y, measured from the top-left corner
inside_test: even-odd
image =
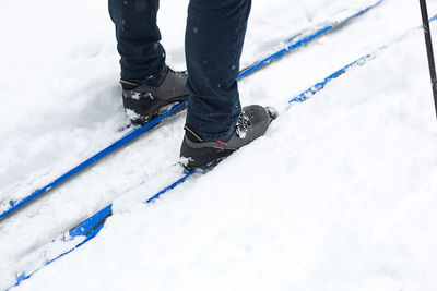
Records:
[[[250,5],[251,0],[190,0],[186,124],[204,140],[228,136],[241,111],[236,77]],[[153,85],[167,71],[157,10],[158,0],[109,0],[125,81]]]

